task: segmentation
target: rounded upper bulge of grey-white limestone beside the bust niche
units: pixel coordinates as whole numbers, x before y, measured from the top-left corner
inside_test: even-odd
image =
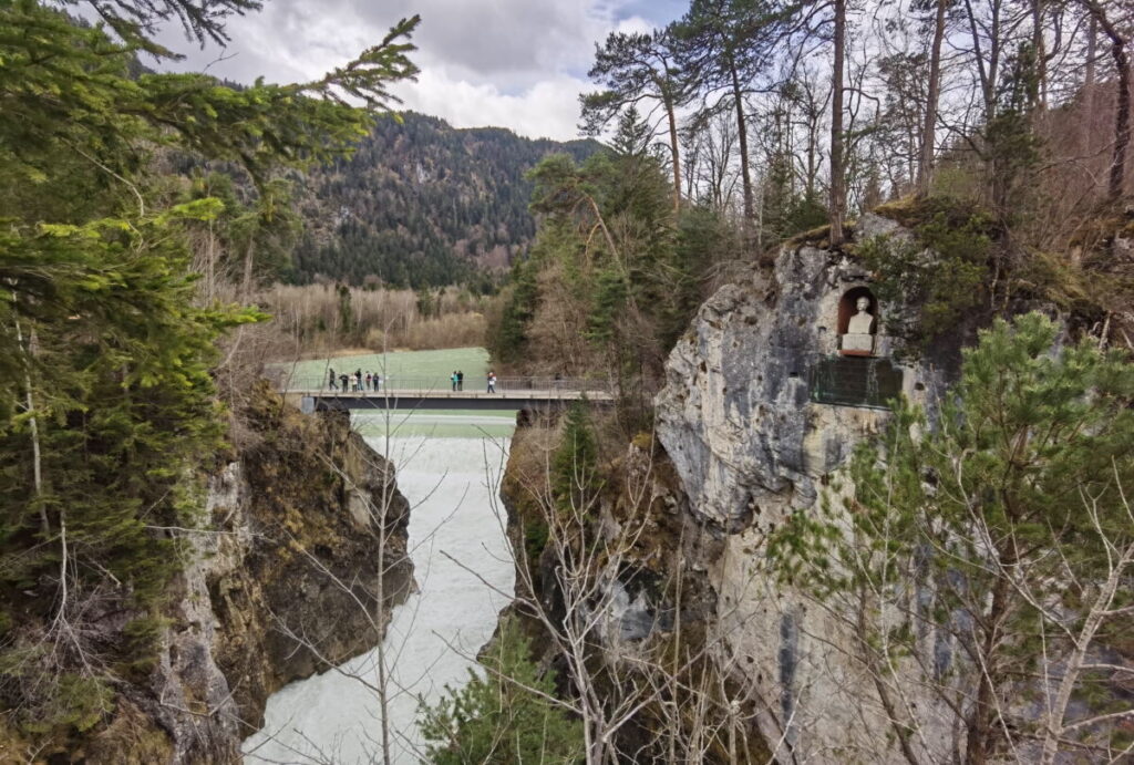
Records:
[[[873,215],[858,224],[860,237],[895,229]],[[838,352],[840,298],[869,286],[854,258],[803,245],[785,248],[771,277],[754,272],[702,306],[669,357],[657,400],[658,435],[695,512],[742,529],[811,507],[815,479],[886,416],[814,405],[809,391],[815,363]],[[880,311],[883,321],[900,321],[911,307]],[[882,355],[899,350],[888,340],[878,338]],[[920,364],[904,372],[914,398],[938,382]]]

